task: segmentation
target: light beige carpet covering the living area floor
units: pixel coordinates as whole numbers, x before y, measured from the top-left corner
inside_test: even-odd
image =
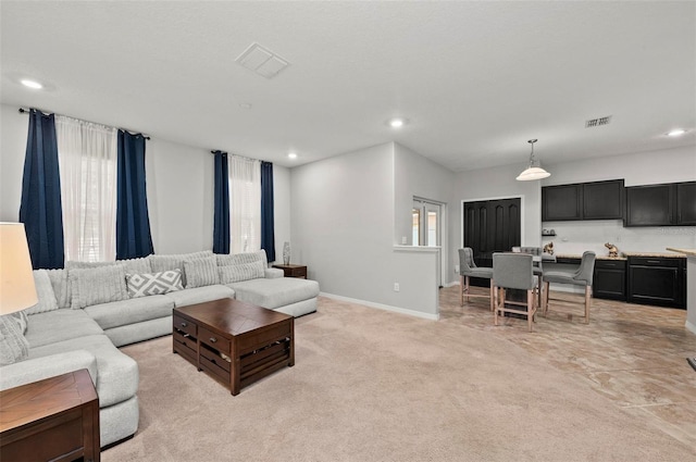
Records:
[[[686,461],[696,449],[493,335],[320,299],[296,365],[233,397],[172,353],[140,367],[137,434],[102,461]]]

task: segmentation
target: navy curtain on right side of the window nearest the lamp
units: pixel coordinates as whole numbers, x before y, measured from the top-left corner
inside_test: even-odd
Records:
[[[153,252],[145,180],[145,137],[119,130],[116,260]]]

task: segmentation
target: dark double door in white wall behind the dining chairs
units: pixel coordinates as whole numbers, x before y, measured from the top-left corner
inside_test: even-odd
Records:
[[[471,247],[478,266],[493,267],[493,253],[520,246],[520,199],[464,202],[464,247]],[[472,285],[488,286],[488,279],[472,278]]]

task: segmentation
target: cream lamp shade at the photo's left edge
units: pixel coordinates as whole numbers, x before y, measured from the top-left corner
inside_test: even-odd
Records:
[[[0,223],[0,314],[38,302],[23,223]]]

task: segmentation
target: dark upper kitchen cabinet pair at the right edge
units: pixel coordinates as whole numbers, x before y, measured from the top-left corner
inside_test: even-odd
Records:
[[[626,226],[696,226],[696,182],[626,188]]]

